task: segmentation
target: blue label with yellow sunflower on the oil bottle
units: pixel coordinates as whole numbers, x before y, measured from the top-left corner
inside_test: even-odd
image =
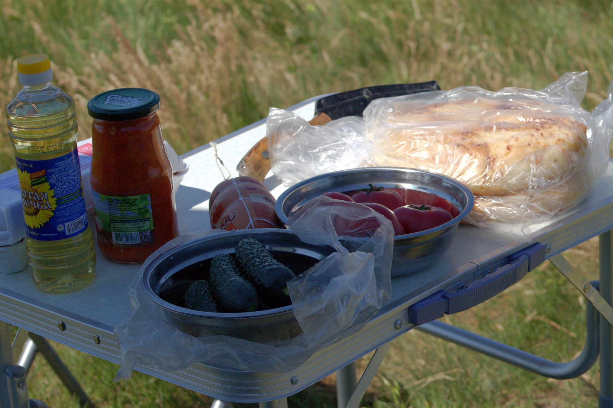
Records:
[[[15,160],[29,238],[55,241],[83,232],[87,214],[77,149],[55,159]]]

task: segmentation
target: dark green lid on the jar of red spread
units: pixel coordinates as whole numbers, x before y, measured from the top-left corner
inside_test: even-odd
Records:
[[[159,95],[143,88],[121,88],[89,99],[87,113],[94,119],[129,121],[159,109]]]

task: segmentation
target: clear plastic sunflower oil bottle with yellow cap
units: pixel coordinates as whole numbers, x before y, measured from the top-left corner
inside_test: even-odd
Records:
[[[81,289],[94,279],[96,255],[88,227],[77,154],[72,97],[51,85],[47,55],[17,61],[23,89],[6,107],[26,222],[28,263],[45,292]]]

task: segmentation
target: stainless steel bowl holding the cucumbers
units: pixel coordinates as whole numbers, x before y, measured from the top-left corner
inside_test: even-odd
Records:
[[[329,246],[305,244],[289,230],[236,230],[208,235],[181,244],[154,259],[143,273],[143,290],[179,330],[193,336],[226,334],[257,342],[283,341],[297,336],[301,331],[291,304],[245,313],[199,312],[181,307],[183,294],[191,282],[208,279],[211,259],[218,254],[234,253],[238,241],[243,238],[260,241],[295,274],[335,252]]]

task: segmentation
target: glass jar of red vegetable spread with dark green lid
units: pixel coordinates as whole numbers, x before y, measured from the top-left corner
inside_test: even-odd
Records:
[[[159,95],[114,89],[89,100],[97,242],[114,262],[140,263],[179,235]]]

